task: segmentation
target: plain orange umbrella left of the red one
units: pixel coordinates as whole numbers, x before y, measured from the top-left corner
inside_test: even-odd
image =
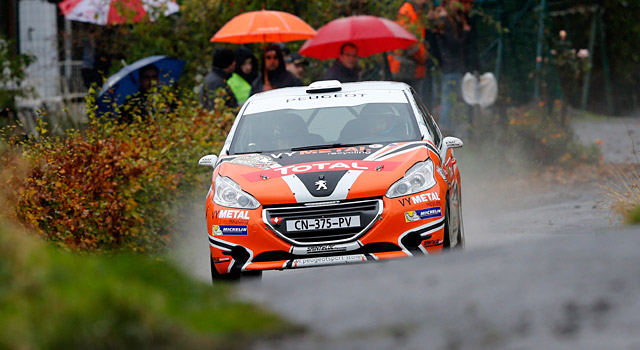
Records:
[[[234,44],[305,40],[316,31],[295,15],[280,11],[252,11],[232,18],[211,38]]]

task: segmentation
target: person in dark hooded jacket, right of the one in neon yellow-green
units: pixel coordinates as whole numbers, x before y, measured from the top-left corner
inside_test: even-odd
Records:
[[[262,73],[251,84],[251,95],[291,86],[302,86],[302,82],[285,68],[280,47],[267,46],[262,55]]]

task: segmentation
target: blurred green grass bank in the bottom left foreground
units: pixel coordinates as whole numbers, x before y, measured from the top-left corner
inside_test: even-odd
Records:
[[[68,252],[0,222],[3,349],[243,349],[296,329],[232,297],[159,259]]]

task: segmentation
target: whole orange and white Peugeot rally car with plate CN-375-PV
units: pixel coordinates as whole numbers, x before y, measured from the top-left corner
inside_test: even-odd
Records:
[[[462,246],[453,148],[404,83],[322,81],[252,96],[206,198],[216,279]]]

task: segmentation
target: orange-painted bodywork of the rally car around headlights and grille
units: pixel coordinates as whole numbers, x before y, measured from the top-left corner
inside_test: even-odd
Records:
[[[321,266],[323,264],[360,262],[364,258],[359,260],[359,255],[367,259],[382,260],[412,256],[416,253],[440,253],[444,242],[444,215],[449,184],[454,182],[459,184],[460,180],[453,154],[450,151],[447,154],[447,161],[444,162],[445,167],[442,168],[442,171],[434,170],[436,184],[428,190],[397,198],[388,198],[385,195],[389,186],[402,178],[407,169],[417,162],[429,158],[433,161],[434,169],[440,169],[439,156],[434,149],[428,148],[428,145],[431,144],[422,142],[414,150],[398,153],[388,158],[383,157],[384,160],[378,162],[369,160],[340,161],[347,165],[313,161],[297,163],[287,169],[284,169],[283,166],[259,169],[241,164],[224,163],[219,165],[214,172],[214,179],[218,174],[233,178],[244,191],[254,196],[262,205],[253,210],[227,208],[215,204],[213,202],[214,192],[209,192],[206,199],[207,231],[211,256],[216,270],[218,273],[227,273],[234,263],[241,263],[242,271],[250,271],[305,267],[311,266],[310,264]],[[431,145],[431,147],[433,146]],[[338,170],[356,172],[357,179],[348,188],[345,201],[378,198],[382,202],[383,210],[366,232],[346,243],[292,244],[274,232],[273,227],[267,223],[267,219],[263,218],[263,209],[274,205],[300,206],[301,204],[296,202],[296,194],[293,193],[295,189],[292,189],[285,177],[295,171],[299,173],[308,171],[313,175],[318,172],[318,164],[320,163],[324,164],[322,165],[322,174]],[[335,164],[339,164],[339,166],[335,169],[329,169]],[[371,164],[376,166],[367,167]],[[380,168],[380,165],[384,166]],[[347,168],[342,168],[343,166],[351,168],[347,170]],[[385,166],[388,166],[386,170]],[[331,202],[331,200],[327,202]],[[425,214],[425,211],[428,215]],[[413,236],[409,238],[410,235]],[[236,246],[241,248],[235,248]],[[385,251],[380,248],[394,246],[397,249]],[[368,247],[377,247],[376,249],[380,251],[375,251],[374,248],[367,251]],[[247,252],[246,259],[240,259],[234,255],[237,254],[234,249],[242,249]],[[318,255],[304,255],[305,249],[307,249],[307,254],[310,254],[308,252],[314,249],[326,249],[329,253],[321,255],[326,258],[317,258]],[[303,252],[303,255],[299,253],[300,251]],[[261,257],[261,260],[253,261],[258,256]],[[298,262],[300,263],[298,264]]]

